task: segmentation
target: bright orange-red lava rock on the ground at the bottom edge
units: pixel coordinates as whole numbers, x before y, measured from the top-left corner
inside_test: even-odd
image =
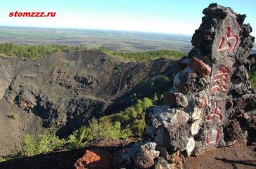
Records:
[[[102,150],[86,150],[86,154],[79,158],[75,164],[76,169],[86,169],[86,168],[113,168],[112,157],[106,151]]]

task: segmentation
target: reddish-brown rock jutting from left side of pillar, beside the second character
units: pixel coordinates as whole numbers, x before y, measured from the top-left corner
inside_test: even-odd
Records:
[[[200,59],[192,58],[189,66],[202,77],[208,77],[211,74],[211,67]]]

